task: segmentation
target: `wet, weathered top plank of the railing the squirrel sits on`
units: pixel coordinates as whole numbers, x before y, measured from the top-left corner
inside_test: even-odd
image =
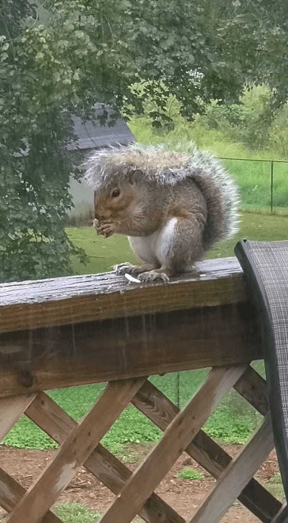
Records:
[[[236,258],[205,260],[195,274],[130,284],[113,272],[0,285],[0,333],[247,301]]]

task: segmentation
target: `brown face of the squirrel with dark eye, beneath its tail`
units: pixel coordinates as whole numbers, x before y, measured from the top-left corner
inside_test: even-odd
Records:
[[[94,190],[94,209],[97,220],[126,218],[139,204],[140,195],[136,179],[132,176],[115,176],[108,185]]]

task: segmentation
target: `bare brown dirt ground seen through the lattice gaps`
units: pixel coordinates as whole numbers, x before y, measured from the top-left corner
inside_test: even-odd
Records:
[[[236,457],[242,448],[240,445],[225,446],[225,450],[233,457]],[[130,446],[125,453],[125,464],[131,470],[134,470],[148,449],[149,447],[144,445]],[[54,452],[53,450],[27,450],[0,446],[1,467],[21,485],[28,488],[51,460]],[[201,481],[179,479],[178,473],[183,467],[191,467],[202,472],[204,479]],[[269,480],[278,471],[278,464],[273,451],[263,463],[256,477],[263,484],[267,483],[268,486]],[[214,483],[215,480],[212,476],[189,458],[187,454],[183,454],[167,476],[164,477],[156,492],[182,517],[187,518],[201,503]],[[83,468],[59,497],[58,503],[77,502],[103,513],[113,498],[114,494]],[[254,517],[240,503],[235,502],[221,521],[223,523],[235,523],[237,521],[257,523],[259,519]]]

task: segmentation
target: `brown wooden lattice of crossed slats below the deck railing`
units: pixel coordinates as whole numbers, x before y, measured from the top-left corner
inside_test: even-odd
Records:
[[[257,433],[234,460],[201,430],[233,386],[264,416]],[[130,401],[164,431],[134,472],[99,443]],[[8,512],[7,523],[61,521],[49,508],[82,466],[116,494],[102,523],[128,523],[137,514],[148,523],[185,523],[153,492],[184,451],[217,478],[213,490],[187,523],[220,521],[237,497],[264,523],[271,522],[281,511],[281,503],[253,478],[273,448],[273,435],[265,382],[250,366],[213,368],[182,411],[146,378],[108,382],[80,423],[44,392],[2,398],[1,439],[23,413],[60,448],[27,491],[0,469],[0,504]],[[191,506],[192,500],[193,487]]]

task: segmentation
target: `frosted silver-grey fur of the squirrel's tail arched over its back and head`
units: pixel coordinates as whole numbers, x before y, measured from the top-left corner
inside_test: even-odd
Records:
[[[147,181],[154,181],[161,186],[173,187],[192,178],[203,193],[208,211],[209,200],[215,206],[215,209],[211,209],[211,233],[210,237],[209,232],[206,234],[207,246],[216,240],[233,236],[238,230],[239,195],[234,180],[216,158],[192,145],[189,153],[171,151],[165,145],[133,143],[110,146],[96,151],[88,158],[85,168],[85,183],[94,190],[105,190],[115,180],[120,182],[135,170],[139,170]],[[217,192],[217,197],[214,196],[213,189]],[[222,215],[219,220],[221,225],[213,223],[217,220],[218,208]]]

